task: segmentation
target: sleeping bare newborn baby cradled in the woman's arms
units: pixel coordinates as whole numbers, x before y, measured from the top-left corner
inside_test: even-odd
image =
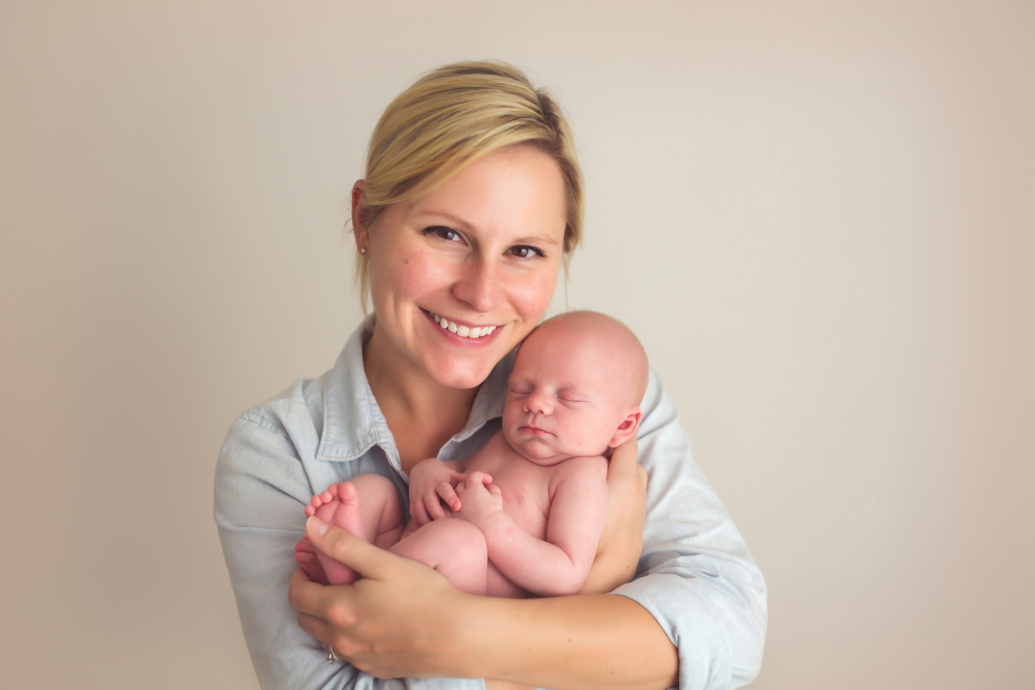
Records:
[[[635,434],[646,388],[647,356],[621,322],[554,317],[518,351],[502,428],[464,460],[413,468],[405,530],[398,493],[380,475],[332,484],[305,514],[431,566],[464,592],[575,594],[608,516],[603,454]],[[314,581],[358,577],[307,540],[295,551]]]

